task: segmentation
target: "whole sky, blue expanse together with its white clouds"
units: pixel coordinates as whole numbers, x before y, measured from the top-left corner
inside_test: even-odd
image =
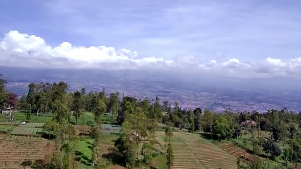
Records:
[[[300,0],[1,0],[0,65],[301,78]]]

